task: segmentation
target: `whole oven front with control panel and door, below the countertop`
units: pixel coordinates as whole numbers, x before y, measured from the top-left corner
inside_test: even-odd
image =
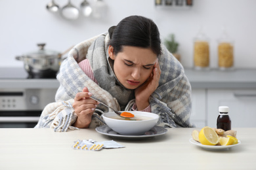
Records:
[[[0,127],[35,127],[56,89],[0,89]]]

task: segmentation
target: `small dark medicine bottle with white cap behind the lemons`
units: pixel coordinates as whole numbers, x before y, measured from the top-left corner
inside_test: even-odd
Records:
[[[223,129],[224,131],[231,130],[231,120],[228,116],[229,107],[220,106],[219,116],[217,118],[217,129]]]

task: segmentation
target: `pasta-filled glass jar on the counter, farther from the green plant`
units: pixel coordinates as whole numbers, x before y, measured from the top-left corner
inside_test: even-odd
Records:
[[[231,69],[234,66],[234,42],[223,31],[218,39],[218,63],[219,69]]]

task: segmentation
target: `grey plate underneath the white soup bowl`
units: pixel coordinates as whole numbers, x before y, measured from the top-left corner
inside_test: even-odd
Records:
[[[116,131],[110,129],[110,127],[104,125],[104,126],[96,127],[96,131],[103,135],[108,135],[108,136],[116,137],[119,139],[136,139],[137,140],[137,139],[144,139],[148,137],[156,137],[159,135],[163,135],[167,132],[167,129],[161,126],[154,126],[149,131],[146,131],[143,135],[120,135]]]

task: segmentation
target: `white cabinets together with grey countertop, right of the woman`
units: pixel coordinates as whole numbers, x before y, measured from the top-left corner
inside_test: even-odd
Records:
[[[216,127],[221,105],[230,107],[232,127],[256,127],[256,69],[185,69],[185,74],[192,86],[190,120],[196,127]]]

